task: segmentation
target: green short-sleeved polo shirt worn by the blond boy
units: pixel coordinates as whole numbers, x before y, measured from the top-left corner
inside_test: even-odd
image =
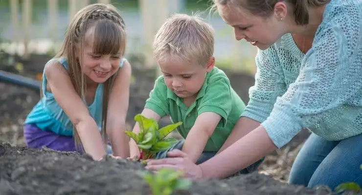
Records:
[[[201,113],[219,114],[222,119],[204,148],[204,152],[217,152],[239,120],[245,109],[245,103],[231,88],[226,74],[215,67],[206,74],[204,84],[190,107],[167,88],[163,76],[160,76],[146,100],[145,108],[155,111],[160,117],[169,115],[173,122],[182,121],[177,130],[183,138],[186,138]]]

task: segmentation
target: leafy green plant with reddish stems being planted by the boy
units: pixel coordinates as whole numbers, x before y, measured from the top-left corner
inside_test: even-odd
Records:
[[[146,118],[141,114],[137,114],[135,120],[139,125],[139,133],[136,134],[129,130],[126,130],[125,133],[136,141],[139,153],[141,154],[139,159],[142,160],[142,162],[177,143],[175,138],[166,138],[166,136],[180,126],[182,122],[170,124],[158,129],[158,123],[153,118]]]

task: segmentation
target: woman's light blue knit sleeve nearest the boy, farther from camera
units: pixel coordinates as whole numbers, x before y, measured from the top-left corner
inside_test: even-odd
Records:
[[[249,103],[241,115],[260,123],[269,117],[275,100],[286,90],[275,46],[258,50],[255,57],[255,84],[249,89]]]

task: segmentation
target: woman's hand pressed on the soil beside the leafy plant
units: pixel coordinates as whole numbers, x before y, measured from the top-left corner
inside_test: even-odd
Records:
[[[162,168],[169,168],[182,171],[185,177],[192,179],[203,178],[201,167],[193,163],[186,153],[175,149],[168,152],[167,156],[169,158],[147,160],[146,169],[156,171]]]

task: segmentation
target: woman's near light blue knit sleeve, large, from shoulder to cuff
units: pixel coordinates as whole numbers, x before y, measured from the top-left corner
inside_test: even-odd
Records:
[[[362,87],[361,22],[340,14],[322,23],[313,47],[302,60],[299,76],[278,97],[262,123],[277,147],[300,130],[328,118],[333,111],[358,96]],[[358,63],[359,62],[359,63]]]

